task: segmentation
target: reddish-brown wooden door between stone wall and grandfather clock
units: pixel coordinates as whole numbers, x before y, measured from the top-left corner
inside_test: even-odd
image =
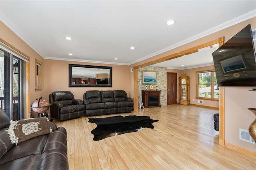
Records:
[[[167,104],[177,104],[176,72],[167,72]]]

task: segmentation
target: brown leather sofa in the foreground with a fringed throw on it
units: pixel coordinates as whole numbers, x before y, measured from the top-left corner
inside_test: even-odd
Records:
[[[40,118],[41,119],[41,118]],[[24,119],[23,119],[24,120]],[[16,146],[8,135],[10,120],[0,110],[0,170],[68,170],[66,129],[50,122],[52,132]]]

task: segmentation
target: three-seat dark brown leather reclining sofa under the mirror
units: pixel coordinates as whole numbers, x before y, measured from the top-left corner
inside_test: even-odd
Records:
[[[84,93],[85,115],[127,113],[134,110],[132,98],[124,90],[88,90]]]

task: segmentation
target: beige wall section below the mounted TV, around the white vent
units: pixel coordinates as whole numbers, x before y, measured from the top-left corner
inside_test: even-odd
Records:
[[[224,133],[227,143],[252,151],[255,144],[239,139],[239,128],[248,130],[255,120],[255,115],[248,108],[256,108],[256,92],[249,90],[252,87],[224,87]]]

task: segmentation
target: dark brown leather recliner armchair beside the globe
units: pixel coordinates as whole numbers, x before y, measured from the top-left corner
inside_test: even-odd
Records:
[[[74,99],[71,92],[59,91],[49,95],[51,116],[58,121],[84,116],[84,104],[80,99]]]

